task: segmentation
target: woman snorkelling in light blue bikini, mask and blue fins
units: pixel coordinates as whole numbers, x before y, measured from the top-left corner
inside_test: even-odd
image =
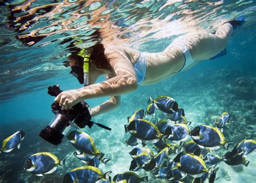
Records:
[[[244,23],[240,18],[221,25],[215,33],[188,33],[176,38],[163,52],[140,52],[124,46],[98,42],[90,49],[81,50],[80,58],[70,57],[71,73],[85,86],[60,93],[55,101],[64,109],[85,99],[106,97],[105,103],[93,107],[92,116],[108,112],[120,104],[120,96],[137,89],[138,85],[161,82],[181,71],[190,69],[200,60],[213,58],[221,53],[233,33]],[[95,36],[104,35],[103,30]],[[106,80],[95,84],[105,74]]]

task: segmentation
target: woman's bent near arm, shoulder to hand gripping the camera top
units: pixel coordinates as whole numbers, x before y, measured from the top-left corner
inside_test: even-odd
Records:
[[[136,90],[138,87],[137,77],[130,60],[112,49],[106,49],[105,56],[109,60],[116,76],[104,82],[85,86],[77,90],[63,91],[55,98],[55,101],[65,109],[71,109],[73,105],[85,99],[120,96]]]

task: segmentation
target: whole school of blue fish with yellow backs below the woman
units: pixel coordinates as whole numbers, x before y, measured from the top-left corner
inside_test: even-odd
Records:
[[[157,118],[157,115],[164,119]],[[147,182],[147,176],[139,177],[134,173],[141,169],[158,179],[172,182],[204,182],[207,179],[214,182],[218,179],[216,174],[221,162],[230,166],[248,166],[246,155],[255,151],[256,140],[244,139],[234,145],[232,151],[227,151],[230,145],[235,144],[223,135],[223,130],[230,125],[227,112],[221,114],[212,126],[189,125],[191,121],[187,121],[184,109],[176,100],[167,96],[150,97],[147,110],[136,110],[124,125],[125,132],[131,134],[124,141],[127,146],[132,146],[129,152],[131,164],[127,167],[129,171],[114,175],[112,180],[111,171],[103,173],[98,168],[100,162],[106,164],[110,159],[104,157],[89,134],[73,130],[67,138],[75,148],[73,155],[85,166],[67,172],[63,182]],[[9,153],[16,147],[19,149],[24,137],[22,130],[10,135],[3,140],[0,153]],[[213,151],[221,146],[226,153],[214,154]],[[66,158],[58,159],[50,152],[38,152],[29,155],[23,168],[31,174],[43,176],[55,172],[58,166],[65,166]]]

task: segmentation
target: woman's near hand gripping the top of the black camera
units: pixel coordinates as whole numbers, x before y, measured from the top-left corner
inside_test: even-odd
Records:
[[[59,103],[64,109],[71,109],[72,106],[76,105],[83,99],[80,97],[79,90],[67,90],[58,94],[55,101]]]

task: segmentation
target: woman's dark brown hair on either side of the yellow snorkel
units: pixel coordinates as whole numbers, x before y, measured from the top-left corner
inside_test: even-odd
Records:
[[[104,51],[105,48],[103,46],[102,43],[100,43],[99,38],[100,38],[100,32],[97,30],[94,33],[92,33],[92,39],[93,40],[98,40],[98,42],[93,45],[91,48],[91,53],[90,53],[90,58],[92,60],[92,62],[96,65],[96,67],[98,69],[111,69],[111,65],[109,63],[109,61],[106,59]],[[90,40],[92,40],[90,39]],[[88,40],[88,41],[90,41]],[[65,61],[63,62],[64,66],[81,66],[83,67],[83,62],[84,62],[84,58],[82,56],[79,56],[78,53],[81,51],[80,48],[77,48],[77,46],[74,44],[75,42],[72,42],[68,48],[69,51],[71,51],[71,55],[68,57],[69,61]]]

